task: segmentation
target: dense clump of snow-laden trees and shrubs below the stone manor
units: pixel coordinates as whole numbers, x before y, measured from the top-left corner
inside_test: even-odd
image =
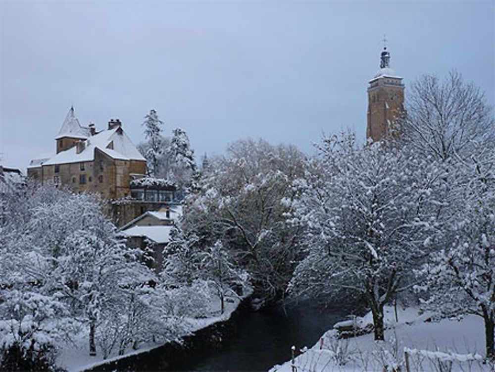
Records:
[[[143,252],[123,244],[94,196],[29,187],[5,195],[3,212],[0,358],[25,356],[12,366],[37,359],[39,350],[49,358],[75,335],[87,337],[90,355],[106,358],[188,333],[184,313],[193,304],[168,311],[183,293],[162,285]]]

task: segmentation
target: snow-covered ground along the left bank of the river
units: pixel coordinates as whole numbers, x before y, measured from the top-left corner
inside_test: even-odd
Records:
[[[247,293],[245,297],[249,296],[250,293],[251,292]],[[215,314],[215,316],[203,319],[188,319],[188,322],[192,324],[193,332],[207,327],[210,324],[229,319],[240,302],[241,299],[239,298],[229,298],[229,301],[225,302],[225,312],[220,314],[220,301],[215,298],[210,304],[211,314]],[[123,356],[116,355],[117,352],[115,351],[109,358],[103,360],[101,353],[96,357],[89,356],[88,334],[87,332],[82,332],[77,339],[74,340],[74,343],[67,343],[60,351],[60,354],[57,357],[57,364],[69,372],[83,371],[94,368],[102,363],[108,363],[130,355],[140,354],[160,346],[161,344],[143,344],[138,350],[130,350]]]

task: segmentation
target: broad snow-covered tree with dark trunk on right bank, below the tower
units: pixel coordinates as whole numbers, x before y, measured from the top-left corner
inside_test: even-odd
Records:
[[[411,285],[411,269],[434,231],[441,173],[431,159],[381,143],[358,148],[353,137],[328,139],[313,159],[294,223],[306,227],[307,256],[290,291],[299,297],[361,296],[375,339],[384,339],[383,308]]]

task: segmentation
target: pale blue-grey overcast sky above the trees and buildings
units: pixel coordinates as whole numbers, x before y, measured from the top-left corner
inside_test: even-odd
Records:
[[[262,137],[312,153],[366,131],[367,81],[387,34],[407,87],[457,69],[495,101],[494,1],[0,0],[0,153],[25,171],[82,125],[120,118],[134,143],[150,108],[197,159]]]

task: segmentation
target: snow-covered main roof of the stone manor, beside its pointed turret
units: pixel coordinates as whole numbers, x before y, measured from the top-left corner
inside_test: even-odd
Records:
[[[96,148],[113,159],[146,160],[133,145],[129,136],[118,126],[89,137],[85,141],[85,149],[81,153],[77,154],[77,146],[73,146],[68,150],[61,151],[44,162],[43,165],[92,161],[95,159]]]

